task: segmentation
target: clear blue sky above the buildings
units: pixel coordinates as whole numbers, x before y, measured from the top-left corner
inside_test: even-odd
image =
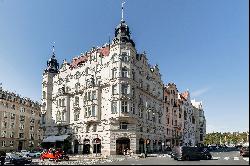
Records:
[[[60,63],[114,37],[120,0],[0,0],[0,82],[40,101],[55,41]],[[249,2],[126,0],[138,52],[164,83],[203,102],[207,132],[249,130]]]

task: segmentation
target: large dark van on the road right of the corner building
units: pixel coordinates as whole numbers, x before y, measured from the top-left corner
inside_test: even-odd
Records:
[[[176,146],[173,149],[175,160],[200,160],[201,154],[198,147]]]

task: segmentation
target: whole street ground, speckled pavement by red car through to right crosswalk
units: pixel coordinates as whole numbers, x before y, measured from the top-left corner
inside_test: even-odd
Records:
[[[70,161],[39,161],[34,159],[36,165],[249,165],[249,157],[242,157],[239,151],[211,152],[212,160],[176,161],[166,154],[157,154],[156,157],[134,158],[118,156],[109,159],[84,159],[83,157],[70,158]]]

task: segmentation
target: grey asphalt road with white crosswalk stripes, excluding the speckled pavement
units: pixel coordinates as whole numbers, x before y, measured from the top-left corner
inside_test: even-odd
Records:
[[[169,156],[148,157],[145,159],[128,158],[117,162],[104,162],[101,165],[249,165],[249,157],[242,157],[239,151],[212,152],[212,160],[176,161]]]

